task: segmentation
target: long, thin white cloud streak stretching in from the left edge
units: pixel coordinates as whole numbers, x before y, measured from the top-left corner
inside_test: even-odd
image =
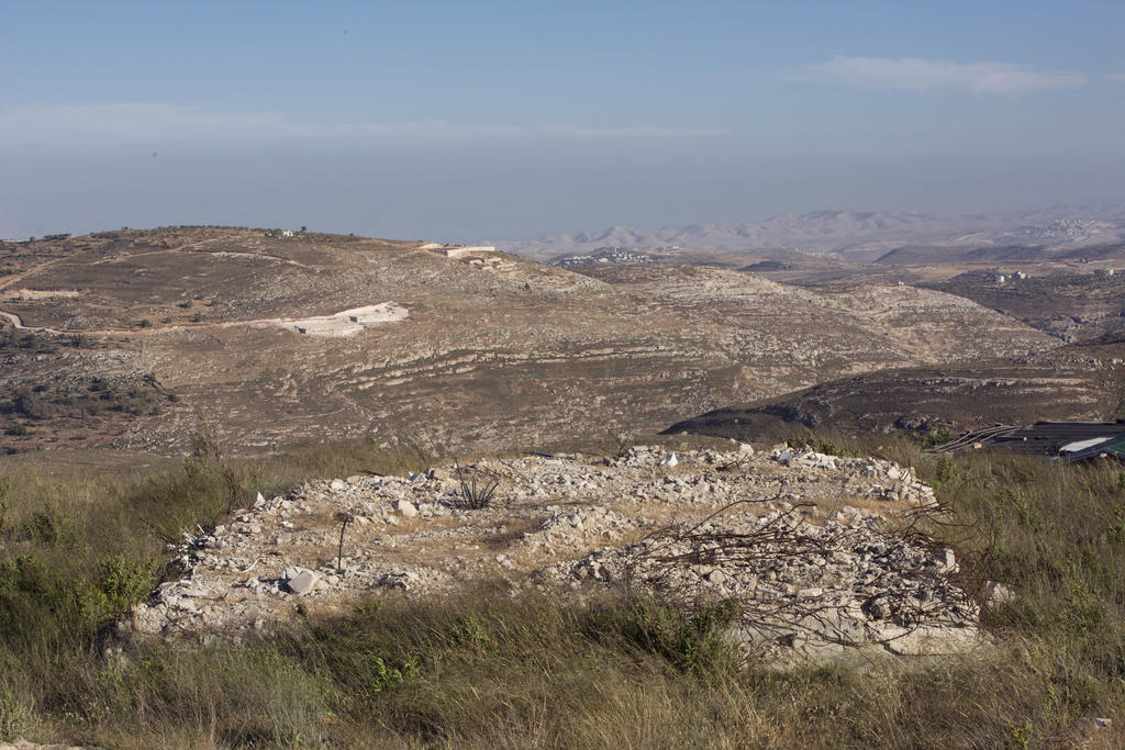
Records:
[[[726,135],[719,128],[462,125],[441,119],[400,123],[296,123],[280,112],[226,111],[182,105],[110,103],[0,107],[0,142],[127,144],[238,138],[675,138]]]

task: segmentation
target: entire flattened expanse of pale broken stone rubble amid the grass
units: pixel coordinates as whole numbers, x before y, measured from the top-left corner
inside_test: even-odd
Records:
[[[909,468],[781,446],[619,457],[531,455],[408,477],[308,482],[259,495],[179,548],[168,581],[122,622],[129,639],[284,629],[370,596],[476,581],[586,596],[628,586],[699,605],[736,600],[747,656],[831,660],[974,647],[978,605],[952,550],[911,519],[939,513]],[[487,507],[469,507],[495,485]],[[342,543],[341,543],[342,539]]]

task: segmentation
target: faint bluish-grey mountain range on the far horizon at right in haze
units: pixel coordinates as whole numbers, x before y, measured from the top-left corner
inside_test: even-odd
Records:
[[[1125,240],[1125,205],[1056,205],[1008,214],[821,210],[782,214],[745,224],[693,224],[552,234],[496,243],[542,261],[609,247],[658,250],[663,255],[722,253],[755,257],[838,255],[874,261],[911,246],[1027,245],[1079,247]]]

